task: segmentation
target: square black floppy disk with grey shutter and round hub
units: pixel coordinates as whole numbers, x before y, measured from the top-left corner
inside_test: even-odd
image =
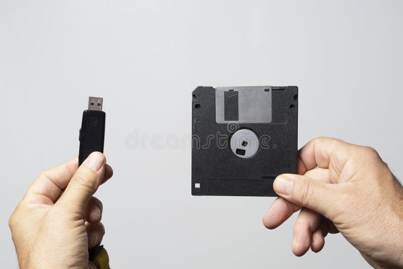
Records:
[[[197,87],[192,93],[192,195],[277,196],[297,173],[298,87]]]

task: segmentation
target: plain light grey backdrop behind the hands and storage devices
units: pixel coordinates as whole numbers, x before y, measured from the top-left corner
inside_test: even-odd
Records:
[[[96,196],[112,268],[367,268],[340,234],[295,257],[296,216],[273,231],[262,225],[273,197],[191,196],[188,146],[126,140],[188,136],[199,85],[297,85],[299,147],[318,136],[372,146],[402,176],[402,9],[0,0],[2,267],[18,266],[9,216],[42,170],[78,155],[82,111],[99,96],[114,176]]]

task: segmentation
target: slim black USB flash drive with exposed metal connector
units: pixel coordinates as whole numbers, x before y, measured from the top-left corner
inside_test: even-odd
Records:
[[[79,165],[95,152],[104,152],[105,112],[102,111],[102,98],[90,97],[88,110],[83,112],[80,129]]]

